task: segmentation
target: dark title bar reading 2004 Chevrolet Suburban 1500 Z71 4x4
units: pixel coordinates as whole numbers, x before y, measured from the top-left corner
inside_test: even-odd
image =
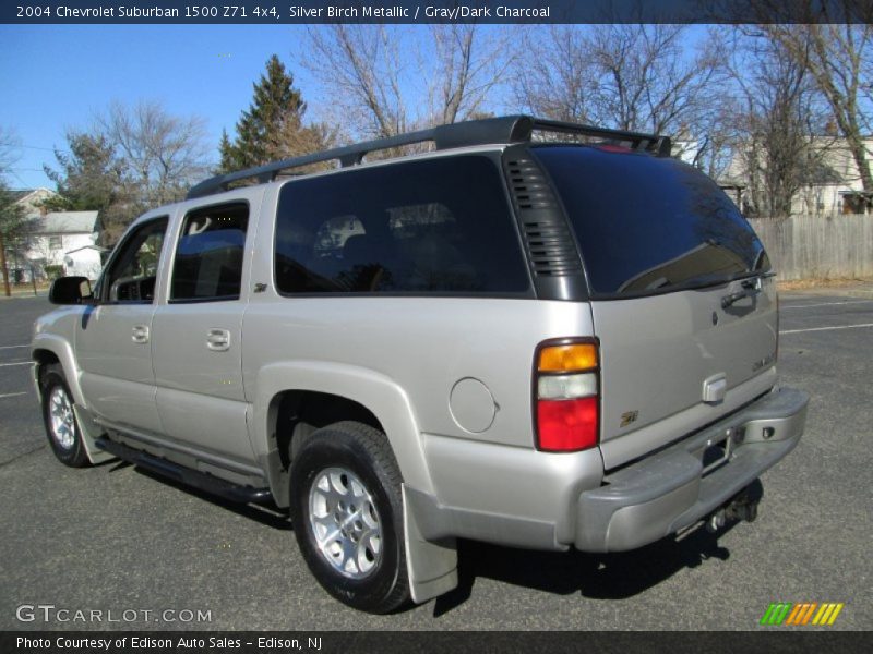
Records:
[[[13,0],[7,24],[870,23],[871,0]]]

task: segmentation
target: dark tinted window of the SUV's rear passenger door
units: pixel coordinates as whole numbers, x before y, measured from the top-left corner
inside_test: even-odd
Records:
[[[242,282],[249,207],[206,207],[182,223],[172,270],[170,300],[235,300]]]

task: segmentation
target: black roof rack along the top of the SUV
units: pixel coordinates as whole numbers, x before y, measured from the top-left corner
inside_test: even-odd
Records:
[[[659,157],[669,157],[671,142],[669,136],[608,130],[572,122],[545,120],[529,116],[506,116],[503,118],[486,118],[466,122],[440,125],[429,130],[409,132],[387,138],[367,141],[356,145],[337,147],[322,153],[304,155],[274,161],[256,168],[248,168],[227,174],[219,174],[200,182],[188,192],[188,198],[203,197],[213,193],[227,191],[230,184],[241,180],[256,179],[259,182],[271,182],[284,170],[300,168],[322,161],[338,161],[342,167],[356,166],[363,158],[376,150],[400,147],[415,143],[433,142],[438,150],[487,145],[491,143],[526,143],[535,131],[558,132],[576,136],[591,136],[609,142],[630,143],[631,148],[653,153]]]

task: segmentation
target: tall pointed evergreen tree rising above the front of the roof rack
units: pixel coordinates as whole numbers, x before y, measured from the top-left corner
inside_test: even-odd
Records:
[[[270,58],[266,72],[253,88],[252,102],[237,121],[236,140],[231,143],[226,132],[222,135],[220,172],[263,166],[324,147],[325,130],[303,126],[307,105],[277,56]]]

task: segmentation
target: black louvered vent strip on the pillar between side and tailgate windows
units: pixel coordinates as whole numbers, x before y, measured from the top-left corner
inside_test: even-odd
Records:
[[[573,237],[539,166],[533,159],[519,157],[506,161],[506,174],[534,272],[537,276],[581,272]]]

